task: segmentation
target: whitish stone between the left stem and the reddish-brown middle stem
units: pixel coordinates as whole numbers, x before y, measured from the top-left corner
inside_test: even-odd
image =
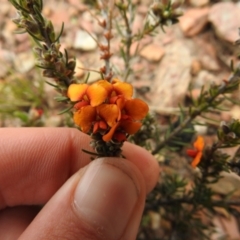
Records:
[[[95,34],[91,33],[91,35],[97,39]],[[96,49],[97,42],[86,31],[78,30],[73,47],[83,51],[92,51]]]

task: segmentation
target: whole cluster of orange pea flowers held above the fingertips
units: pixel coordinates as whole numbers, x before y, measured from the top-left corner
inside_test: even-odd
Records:
[[[75,124],[85,133],[100,133],[105,142],[123,142],[142,126],[148,105],[132,95],[132,85],[118,79],[71,84],[68,88],[68,97],[75,103]]]

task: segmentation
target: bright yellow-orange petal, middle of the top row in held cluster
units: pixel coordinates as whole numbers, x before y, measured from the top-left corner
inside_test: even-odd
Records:
[[[110,94],[112,85],[106,80],[100,80],[90,85],[87,89],[87,95],[92,107],[102,104]]]

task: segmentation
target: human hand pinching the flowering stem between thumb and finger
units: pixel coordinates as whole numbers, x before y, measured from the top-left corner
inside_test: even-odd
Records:
[[[1,240],[136,238],[158,164],[130,143],[127,159],[91,162],[89,141],[69,128],[0,129]]]

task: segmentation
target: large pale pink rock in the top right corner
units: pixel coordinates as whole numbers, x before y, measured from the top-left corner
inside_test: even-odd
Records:
[[[209,21],[216,34],[227,42],[235,42],[238,38],[240,7],[232,2],[220,2],[211,7]]]

